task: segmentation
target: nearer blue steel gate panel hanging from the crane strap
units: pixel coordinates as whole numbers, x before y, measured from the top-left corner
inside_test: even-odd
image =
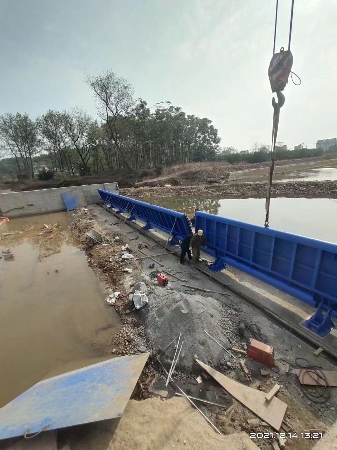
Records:
[[[225,263],[315,306],[306,326],[321,336],[337,317],[337,245],[215,216],[195,215],[195,229],[203,229],[216,257],[210,270]]]

